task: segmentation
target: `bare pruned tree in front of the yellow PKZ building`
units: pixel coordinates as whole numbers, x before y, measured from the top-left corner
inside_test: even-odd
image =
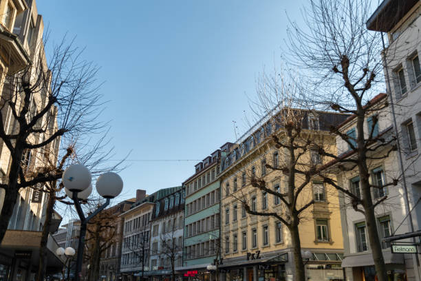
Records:
[[[257,98],[251,103],[252,111],[260,120],[260,127],[253,127],[255,132],[249,138],[259,148],[246,157],[250,160],[257,157],[261,162],[261,171],[258,174],[253,168],[242,168],[241,171],[247,178],[242,180],[247,180],[252,188],[262,191],[265,196],[274,196],[274,204],[265,199],[263,207],[257,208],[257,199],[250,200],[249,190],[231,190],[227,193],[241,201],[248,214],[272,217],[285,225],[290,233],[294,256],[294,280],[303,281],[305,266],[301,255],[299,229],[301,222],[312,218],[312,182],[319,176],[321,164],[330,160],[330,156],[322,159],[319,154],[314,155],[314,149],[317,145],[330,151],[335,139],[325,127],[312,123],[311,116],[325,116],[327,113],[308,110],[302,100],[301,90],[292,76],[276,71],[273,74],[263,73],[257,82]],[[325,119],[338,123],[347,116],[334,114]],[[274,155],[271,152],[273,149],[277,149]],[[274,176],[272,174],[268,177],[270,171],[273,171],[275,177],[283,178],[283,188],[272,187]]]

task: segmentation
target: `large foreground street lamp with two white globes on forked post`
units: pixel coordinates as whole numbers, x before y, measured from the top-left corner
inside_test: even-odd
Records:
[[[85,200],[91,194],[91,173],[83,165],[71,165],[67,167],[63,173],[63,184],[67,192],[72,193],[72,200],[80,218],[80,233],[78,243],[78,254],[76,258],[76,281],[80,281],[82,263],[83,263],[83,250],[85,248],[85,236],[87,230],[87,222],[94,218],[100,211],[109,205],[111,198],[114,198],[122,191],[122,179],[118,174],[107,172],[102,174],[96,180],[96,191],[98,194],[105,198],[105,203],[98,207],[92,214],[85,217],[79,200]],[[67,193],[66,192],[66,193]]]

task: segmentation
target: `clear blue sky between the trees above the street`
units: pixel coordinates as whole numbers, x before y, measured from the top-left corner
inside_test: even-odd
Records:
[[[245,127],[248,96],[279,61],[296,1],[57,1],[37,6],[51,39],[67,32],[101,67],[116,159],[203,159]],[[121,199],[173,187],[197,161],[129,162]]]

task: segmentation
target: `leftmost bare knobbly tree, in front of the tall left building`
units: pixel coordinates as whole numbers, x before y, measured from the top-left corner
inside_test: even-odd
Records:
[[[102,131],[105,125],[97,121],[102,105],[96,83],[98,68],[81,59],[81,50],[73,41],[63,39],[48,59],[44,43],[34,45],[32,63],[6,77],[0,98],[1,156],[8,163],[0,184],[5,191],[0,242],[19,189],[61,178],[65,167],[56,164],[61,140],[87,141],[89,134]],[[45,165],[47,162],[54,165]]]

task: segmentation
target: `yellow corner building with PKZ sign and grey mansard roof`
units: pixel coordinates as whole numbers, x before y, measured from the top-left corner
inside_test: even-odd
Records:
[[[330,152],[336,151],[334,136],[327,128],[337,125],[347,116],[328,112],[318,112],[317,118],[314,116],[310,112],[303,114],[303,134],[313,135],[319,145],[323,144]],[[281,139],[282,130],[271,121],[255,126],[253,132],[232,145],[230,153],[222,159],[221,244],[224,262],[220,269],[225,281],[294,278],[294,256],[288,228],[274,216],[250,215],[243,206],[246,202],[252,211],[276,213],[288,219],[285,205],[278,196],[250,183],[252,178],[260,178],[266,182],[267,188],[288,193],[285,173],[270,168],[281,167],[288,160],[285,150],[275,147],[272,140],[273,134]],[[310,152],[300,159],[301,168],[314,161],[321,166],[330,160]],[[303,180],[297,175],[295,185],[298,187]],[[297,197],[297,209],[312,200],[314,204],[301,213],[299,223],[306,276],[309,280],[343,280],[343,234],[338,193],[334,187],[323,185],[321,178],[314,177]]]

